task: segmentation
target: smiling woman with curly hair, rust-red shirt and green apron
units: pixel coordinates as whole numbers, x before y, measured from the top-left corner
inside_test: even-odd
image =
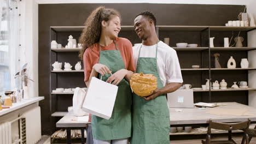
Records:
[[[120,14],[117,10],[98,7],[88,17],[79,39],[83,45],[80,58],[84,61],[85,84],[93,76],[118,86],[112,117],[91,116],[94,143],[128,143],[131,137],[132,92],[129,86],[135,71],[132,44],[118,38]],[[99,89],[100,90],[100,89]]]

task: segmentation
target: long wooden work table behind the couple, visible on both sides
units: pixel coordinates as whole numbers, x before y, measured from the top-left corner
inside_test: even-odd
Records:
[[[247,121],[248,118],[251,122],[256,122],[256,108],[238,104],[235,102],[231,103],[217,103],[220,106],[209,108],[205,110],[194,107],[188,108],[170,108],[170,123],[171,127],[178,127],[179,125],[199,125],[208,124],[208,120],[211,118],[214,122],[241,122]],[[248,116],[235,116],[235,115],[212,115],[207,113],[210,109],[248,109],[251,115]],[[178,111],[182,110],[182,111]],[[71,129],[84,129],[88,123],[88,117],[85,116],[82,119],[74,116],[72,112],[67,113],[64,117],[56,123],[57,128],[67,129],[67,143],[71,143],[70,130]]]

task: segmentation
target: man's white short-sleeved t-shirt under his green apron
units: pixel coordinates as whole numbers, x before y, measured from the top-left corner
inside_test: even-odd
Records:
[[[137,67],[139,47],[141,47],[141,54],[139,57],[155,57],[156,44],[151,46],[135,44],[135,46],[132,47],[135,67]],[[157,63],[158,74],[164,86],[166,83],[170,82],[183,82],[181,67],[179,66],[179,59],[176,51],[162,41],[159,41],[158,43]]]

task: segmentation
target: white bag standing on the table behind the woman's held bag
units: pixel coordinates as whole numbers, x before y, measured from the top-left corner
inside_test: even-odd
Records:
[[[85,111],[82,110],[82,106],[84,103],[86,92],[83,88],[75,88],[74,95],[73,95],[73,112],[75,116],[85,116],[88,115]]]

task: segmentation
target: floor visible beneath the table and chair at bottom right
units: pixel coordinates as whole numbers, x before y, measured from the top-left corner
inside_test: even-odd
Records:
[[[200,136],[201,137],[201,136]],[[184,139],[186,139],[186,137],[183,137]],[[238,144],[241,143],[242,141],[242,135],[235,135],[232,137],[233,140]],[[205,140],[205,137],[203,137],[203,139],[187,139],[187,140],[171,140],[170,144],[197,144],[197,143],[201,143],[201,140]],[[228,137],[227,136],[213,136],[213,140],[227,140]],[[250,144],[256,144],[256,137],[253,137]]]

